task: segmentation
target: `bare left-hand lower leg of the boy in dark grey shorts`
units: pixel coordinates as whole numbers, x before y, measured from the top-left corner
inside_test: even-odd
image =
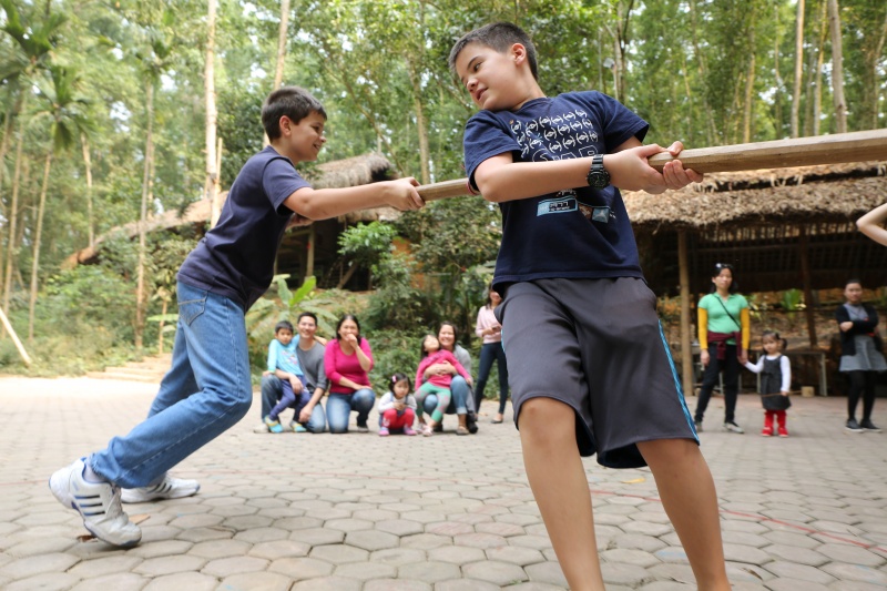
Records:
[[[519,422],[530,488],[570,589],[603,591],[575,412],[551,398],[531,398],[521,405]]]

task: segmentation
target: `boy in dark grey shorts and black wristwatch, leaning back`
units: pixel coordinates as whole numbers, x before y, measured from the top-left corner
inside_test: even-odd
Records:
[[[597,452],[604,466],[650,466],[699,589],[730,589],[714,482],[616,188],[662,193],[702,176],[679,161],[652,169],[665,150],[641,144],[649,125],[618,101],[546,96],[513,24],[466,34],[449,64],[481,109],[465,163],[502,211],[496,315],[527,476],[570,588],[603,590],[580,459]]]

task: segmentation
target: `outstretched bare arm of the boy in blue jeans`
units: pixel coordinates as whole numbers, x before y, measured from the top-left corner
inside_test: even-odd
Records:
[[[416,179],[398,179],[345,188],[304,186],[286,197],[284,205],[308,220],[328,220],[355,212],[389,205],[397,210],[418,210],[425,205]]]

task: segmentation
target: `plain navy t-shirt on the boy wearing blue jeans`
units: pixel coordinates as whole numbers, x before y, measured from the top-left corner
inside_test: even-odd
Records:
[[[310,185],[289,159],[272,146],[251,157],[231,185],[218,223],[179,269],[179,281],[249,309],[274,276],[277,247],[293,215],[284,201],[305,186]]]

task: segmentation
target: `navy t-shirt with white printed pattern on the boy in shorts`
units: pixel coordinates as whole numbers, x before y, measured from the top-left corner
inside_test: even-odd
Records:
[[[650,125],[600,92],[533,99],[518,111],[480,111],[466,124],[471,184],[487,159],[514,162],[606,154]],[[475,185],[477,186],[477,185]],[[502,244],[495,285],[543,278],[643,277],[638,245],[619,190],[589,186],[500,203]]]

